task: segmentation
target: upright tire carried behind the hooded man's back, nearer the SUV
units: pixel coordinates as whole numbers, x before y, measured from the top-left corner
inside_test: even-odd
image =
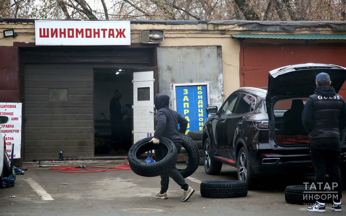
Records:
[[[192,173],[194,173],[197,170],[200,157],[198,154],[197,145],[188,135],[180,133],[179,137],[182,140],[182,146],[188,154],[188,156],[185,158],[185,163],[188,166],[185,169],[178,169],[178,171],[184,178],[186,178],[191,176]]]

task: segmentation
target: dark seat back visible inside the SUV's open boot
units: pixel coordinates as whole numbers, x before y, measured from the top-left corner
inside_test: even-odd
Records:
[[[281,131],[293,134],[306,134],[301,122],[304,103],[300,99],[292,100],[291,109],[283,114]]]

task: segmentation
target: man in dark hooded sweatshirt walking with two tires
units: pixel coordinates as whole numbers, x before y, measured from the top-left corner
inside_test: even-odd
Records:
[[[165,94],[157,94],[154,98],[155,108],[157,110],[155,115],[156,130],[154,138],[151,140],[154,144],[160,143],[160,138],[165,137],[170,139],[176,146],[177,152],[180,152],[182,140],[179,137],[179,133],[185,133],[188,127],[188,121],[179,113],[169,108],[170,97]],[[178,129],[178,124],[180,129]],[[162,159],[163,152],[156,150],[156,158]],[[167,189],[169,184],[169,177],[171,177],[180,187],[184,190],[183,198],[181,201],[188,200],[194,192],[194,189],[186,184],[183,176],[178,169],[167,171],[161,175],[161,191],[156,194],[155,198],[167,199]]]

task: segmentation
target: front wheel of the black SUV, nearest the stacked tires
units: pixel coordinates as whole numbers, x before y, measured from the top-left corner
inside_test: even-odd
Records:
[[[209,138],[204,141],[203,152],[204,170],[208,175],[218,175],[221,171],[222,163],[213,158]]]

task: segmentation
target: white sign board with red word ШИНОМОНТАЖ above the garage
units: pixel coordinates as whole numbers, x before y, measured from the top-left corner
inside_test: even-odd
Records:
[[[130,21],[35,20],[36,45],[130,45]]]

